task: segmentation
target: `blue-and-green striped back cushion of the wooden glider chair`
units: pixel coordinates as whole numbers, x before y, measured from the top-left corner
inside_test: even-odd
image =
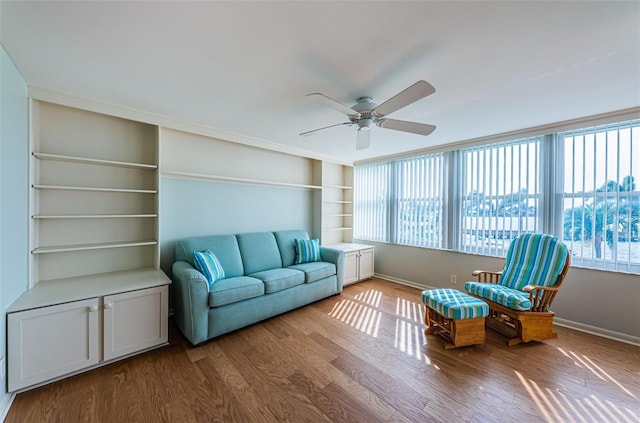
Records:
[[[526,285],[553,286],[567,257],[567,247],[554,236],[520,235],[509,245],[500,285],[518,291]]]

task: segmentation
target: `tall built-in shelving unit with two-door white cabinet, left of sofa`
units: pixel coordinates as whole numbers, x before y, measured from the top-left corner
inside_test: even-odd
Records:
[[[9,390],[167,343],[158,129],[31,103],[29,289],[7,316]]]

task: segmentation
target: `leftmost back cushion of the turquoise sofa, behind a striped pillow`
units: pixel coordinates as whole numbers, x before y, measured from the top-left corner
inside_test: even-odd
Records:
[[[175,260],[186,261],[196,267],[193,253],[206,250],[210,250],[218,258],[225,277],[232,278],[244,275],[240,248],[233,235],[199,236],[177,241]]]

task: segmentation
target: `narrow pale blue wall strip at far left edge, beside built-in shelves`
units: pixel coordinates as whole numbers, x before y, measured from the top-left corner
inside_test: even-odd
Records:
[[[0,48],[0,356],[6,352],[6,309],[28,284],[29,137],[27,87]],[[8,399],[0,380],[0,412]],[[0,416],[1,417],[1,416]]]

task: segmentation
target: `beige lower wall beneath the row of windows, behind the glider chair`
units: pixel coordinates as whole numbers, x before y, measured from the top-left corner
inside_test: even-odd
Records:
[[[371,243],[375,272],[416,287],[463,289],[476,269],[501,270],[504,259],[452,251]],[[450,275],[457,276],[452,285]],[[553,303],[556,322],[640,344],[640,276],[571,267]]]

